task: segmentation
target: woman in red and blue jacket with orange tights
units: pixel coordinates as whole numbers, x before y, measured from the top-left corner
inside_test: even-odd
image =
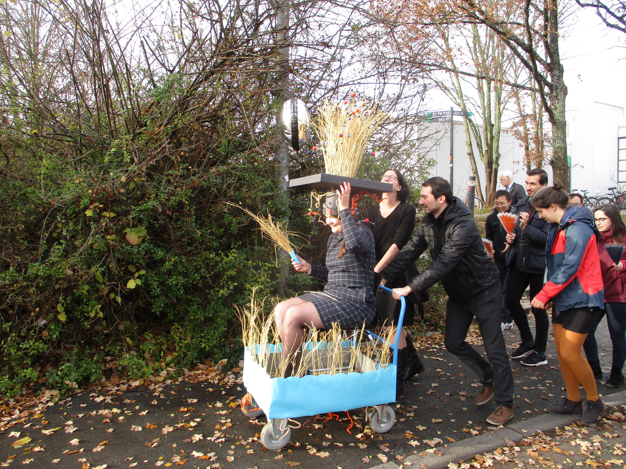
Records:
[[[551,223],[546,244],[548,282],[531,301],[547,309],[552,302],[552,333],[567,397],[548,408],[555,414],[582,413],[583,423],[598,420],[604,410],[593,371],[582,346],[598,311],[604,308],[604,290],[596,240],[600,233],[588,208],[571,206],[563,184],[540,189],[533,203],[541,218]],[[583,407],[579,386],[587,393]]]

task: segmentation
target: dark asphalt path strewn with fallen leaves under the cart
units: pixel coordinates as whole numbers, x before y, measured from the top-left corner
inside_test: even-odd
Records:
[[[514,350],[516,329],[505,338]],[[469,340],[484,351],[476,330]],[[560,401],[563,382],[550,347],[546,366],[511,361],[515,416],[508,423],[540,415]],[[165,385],[85,390],[54,405],[14,411],[0,421],[0,466],[361,469],[401,464],[414,453],[495,430],[485,421],[495,401],[473,403],[480,383],[444,349],[443,340],[424,339],[419,348],[426,371],[394,403],[396,423],[387,433],[373,433],[357,411],[318,415],[295,419],[302,428],[292,430],[290,443],[266,450],[258,441],[264,416],[249,419],[240,411],[240,373],[220,375],[200,366]],[[16,445],[24,438],[31,439]]]

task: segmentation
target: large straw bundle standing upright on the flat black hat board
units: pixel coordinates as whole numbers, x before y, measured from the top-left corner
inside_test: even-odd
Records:
[[[317,108],[313,125],[322,141],[326,173],[354,178],[367,142],[387,116],[376,104],[354,100],[325,101]]]

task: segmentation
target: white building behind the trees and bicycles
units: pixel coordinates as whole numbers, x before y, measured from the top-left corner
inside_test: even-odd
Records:
[[[568,153],[571,157],[572,189],[587,190],[590,195],[605,194],[607,188],[626,184],[626,126],[623,108],[603,103],[592,103],[585,109],[568,112]],[[463,122],[454,124],[453,186],[454,194],[465,197],[468,178],[472,175],[465,144]],[[450,124],[431,123],[429,131],[441,140],[428,156],[437,161],[431,169],[433,176],[450,179]],[[505,131],[500,138],[500,171],[513,171],[516,183],[523,184],[526,176],[524,151],[520,142]],[[480,184],[485,192],[485,166],[475,148],[476,166]],[[621,161],[618,163],[618,161]],[[545,166],[552,181],[552,168]],[[498,188],[501,186],[498,184]]]

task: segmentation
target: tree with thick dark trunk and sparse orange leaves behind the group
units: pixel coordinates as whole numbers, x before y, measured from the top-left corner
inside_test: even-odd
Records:
[[[568,184],[568,163],[566,144],[565,97],[567,86],[563,78],[563,66],[559,51],[560,9],[556,0],[544,0],[533,3],[525,0],[522,3],[513,0],[477,1],[477,0],[439,0],[429,4],[428,9],[436,14],[418,15],[409,18],[404,11],[413,11],[413,2],[391,3],[382,2],[379,11],[381,21],[386,21],[390,28],[410,28],[418,39],[428,40],[429,28],[433,24],[449,25],[477,24],[493,31],[498,39],[510,50],[515,61],[518,61],[530,74],[531,81],[517,83],[506,76],[495,76],[488,71],[459,69],[461,75],[491,79],[511,88],[536,93],[541,101],[543,111],[552,125],[552,165],[555,178]],[[425,8],[418,6],[417,8]],[[406,44],[402,43],[402,47]],[[427,55],[426,58],[429,56]],[[455,70],[440,63],[419,59],[424,69],[444,70],[454,73]]]

